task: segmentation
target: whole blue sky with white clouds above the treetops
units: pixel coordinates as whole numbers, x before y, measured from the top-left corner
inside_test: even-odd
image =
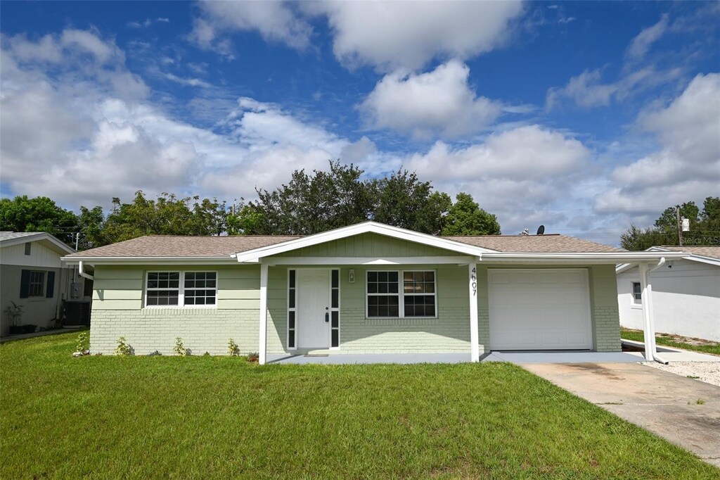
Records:
[[[3,2],[1,194],[233,201],[328,159],[615,244],[720,195],[716,2]]]

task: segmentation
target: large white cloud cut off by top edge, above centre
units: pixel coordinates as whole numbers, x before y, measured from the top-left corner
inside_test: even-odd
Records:
[[[347,66],[415,70],[432,58],[472,58],[506,40],[516,1],[324,1],[333,52]]]

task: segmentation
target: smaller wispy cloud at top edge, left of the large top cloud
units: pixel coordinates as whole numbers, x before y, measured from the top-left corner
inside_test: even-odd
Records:
[[[215,42],[225,32],[256,30],[265,40],[304,50],[310,45],[312,27],[282,1],[202,1],[202,17],[190,34],[202,48],[220,49],[227,55],[230,45]]]

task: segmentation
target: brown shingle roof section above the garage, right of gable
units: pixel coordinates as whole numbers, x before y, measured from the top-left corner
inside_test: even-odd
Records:
[[[557,234],[444,236],[443,238],[508,253],[624,252],[613,246]]]

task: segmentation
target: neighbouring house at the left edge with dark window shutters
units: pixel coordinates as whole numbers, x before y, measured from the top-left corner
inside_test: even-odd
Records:
[[[83,279],[60,261],[73,252],[44,232],[0,232],[0,335],[9,332],[12,302],[22,306],[22,324],[45,327],[60,318],[63,300],[81,296]]]

